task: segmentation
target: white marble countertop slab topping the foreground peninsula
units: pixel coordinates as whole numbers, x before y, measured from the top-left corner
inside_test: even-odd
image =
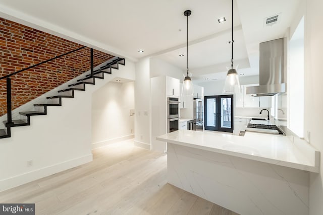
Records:
[[[178,130],[160,135],[156,139],[309,172],[319,172],[319,151],[305,141],[294,144],[287,136],[254,132],[238,136],[209,131]]]

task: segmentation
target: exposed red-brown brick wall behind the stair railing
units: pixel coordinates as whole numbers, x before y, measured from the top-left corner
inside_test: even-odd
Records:
[[[82,45],[0,18],[0,77],[82,47]],[[114,56],[94,50],[94,66]],[[12,109],[90,69],[90,48],[12,76]],[[0,81],[0,116],[7,113],[6,80]]]

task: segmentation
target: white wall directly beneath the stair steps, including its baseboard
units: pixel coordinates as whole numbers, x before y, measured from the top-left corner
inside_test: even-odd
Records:
[[[12,128],[12,137],[0,139],[0,191],[92,161],[92,92],[116,76],[134,80],[134,71],[126,59],[126,66],[86,85],[75,98],[63,98],[61,107],[32,116],[30,126]]]

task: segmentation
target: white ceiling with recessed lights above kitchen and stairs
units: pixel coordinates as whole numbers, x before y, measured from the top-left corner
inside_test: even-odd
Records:
[[[234,1],[234,59],[238,73],[258,74],[259,42],[283,37],[301,0]],[[186,71],[186,17],[189,67],[197,82],[223,79],[230,66],[230,0],[0,0],[0,16],[74,38],[85,45],[138,60],[163,59]],[[264,18],[280,21],[264,27]],[[225,17],[219,24],[217,19]],[[139,53],[142,49],[144,52]],[[185,56],[180,57],[179,54]],[[207,79],[207,80],[206,80]]]

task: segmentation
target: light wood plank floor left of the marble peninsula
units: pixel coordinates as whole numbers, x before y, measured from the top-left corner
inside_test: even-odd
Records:
[[[133,140],[93,150],[93,162],[0,192],[36,214],[237,214],[166,181],[167,155]]]

